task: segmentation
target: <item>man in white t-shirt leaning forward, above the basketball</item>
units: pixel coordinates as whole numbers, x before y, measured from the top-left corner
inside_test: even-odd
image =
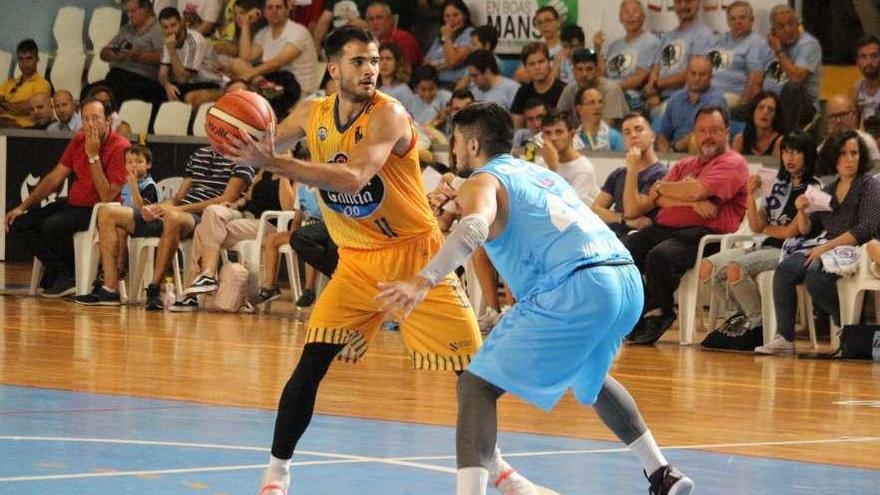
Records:
[[[236,78],[258,86],[263,80],[285,87],[291,93],[299,90],[306,94],[318,83],[318,54],[308,29],[290,20],[287,0],[266,0],[263,9],[268,25],[251,40],[250,24],[242,23],[238,40],[238,58],[227,70]],[[251,61],[259,60],[256,66]],[[295,79],[294,86],[290,76]],[[291,96],[296,102],[296,97]]]

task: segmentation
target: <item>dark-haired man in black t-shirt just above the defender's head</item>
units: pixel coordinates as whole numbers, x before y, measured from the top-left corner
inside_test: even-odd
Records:
[[[556,77],[550,67],[550,53],[544,43],[534,42],[524,46],[520,60],[529,72],[531,82],[520,86],[510,105],[510,114],[516,129],[523,127],[523,105],[526,101],[538,98],[544,102],[546,108],[556,108],[565,89],[565,83]]]

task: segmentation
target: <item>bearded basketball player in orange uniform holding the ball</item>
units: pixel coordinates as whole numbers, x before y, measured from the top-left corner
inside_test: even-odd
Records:
[[[414,277],[443,243],[422,186],[416,130],[400,103],[376,91],[378,44],[363,29],[343,27],[327,38],[325,52],[335,95],[301,103],[259,143],[244,130],[243,140],[230,139],[239,162],[317,186],[339,246],[339,265],[312,311],[302,356],[281,394],[260,495],[287,493],[290,459],[333,359],[359,360],[379,331],[386,315],[374,300],[377,284]],[[302,136],[314,161],[276,155],[276,142],[284,148]],[[454,276],[432,289],[400,330],[417,369],[462,372],[482,344]],[[490,474],[505,494],[537,493],[497,449]]]

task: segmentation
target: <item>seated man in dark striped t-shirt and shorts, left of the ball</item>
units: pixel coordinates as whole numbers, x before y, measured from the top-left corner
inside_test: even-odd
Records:
[[[254,169],[236,165],[210,146],[199,148],[189,157],[183,182],[173,198],[144,208],[108,206],[98,213],[98,239],[104,282],[96,284],[91,294],[77,297],[85,305],[115,306],[119,300],[118,230],[133,237],[159,237],[153,277],[147,287],[147,310],[162,309],[159,283],[181,239],[190,237],[201,212],[212,204],[231,203],[241,197],[254,179]],[[133,287],[132,290],[139,290]]]

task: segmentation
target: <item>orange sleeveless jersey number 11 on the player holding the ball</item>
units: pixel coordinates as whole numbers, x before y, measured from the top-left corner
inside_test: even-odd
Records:
[[[318,99],[306,126],[312,160],[346,166],[355,143],[366,137],[373,112],[394,103],[396,100],[376,91],[361,114],[341,127],[336,118],[336,95]],[[413,128],[406,153],[391,153],[379,173],[357,194],[320,191],[324,222],[339,247],[383,249],[439,232],[422,184],[417,141]]]

